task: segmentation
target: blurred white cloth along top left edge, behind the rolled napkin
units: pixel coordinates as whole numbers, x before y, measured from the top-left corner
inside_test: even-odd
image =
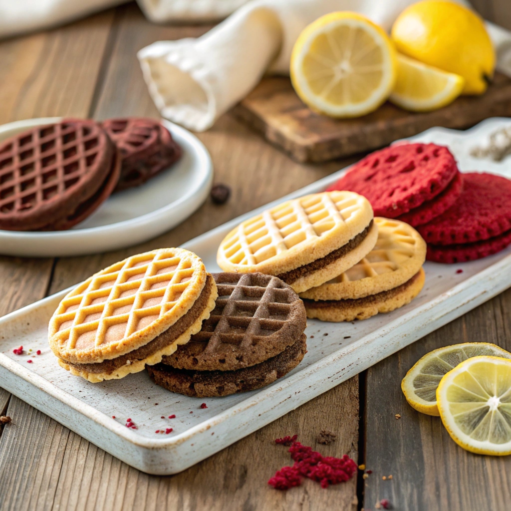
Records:
[[[137,0],[157,23],[223,19],[247,0]],[[55,27],[127,0],[0,0],[0,38]]]

